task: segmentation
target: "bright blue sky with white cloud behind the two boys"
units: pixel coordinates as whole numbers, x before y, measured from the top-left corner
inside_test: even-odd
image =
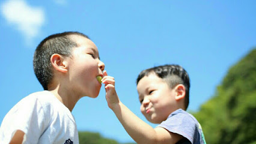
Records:
[[[26,95],[42,91],[32,68],[35,47],[50,34],[79,31],[97,45],[120,100],[139,118],[141,70],[180,64],[190,76],[189,110],[198,110],[231,65],[256,46],[256,1],[0,2],[0,122]],[[105,90],[73,109],[78,130],[133,142],[108,108]],[[152,127],[156,125],[150,124]]]

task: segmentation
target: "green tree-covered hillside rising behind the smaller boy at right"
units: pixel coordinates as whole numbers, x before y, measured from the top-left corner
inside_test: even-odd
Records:
[[[230,68],[194,116],[207,143],[256,143],[256,49]]]

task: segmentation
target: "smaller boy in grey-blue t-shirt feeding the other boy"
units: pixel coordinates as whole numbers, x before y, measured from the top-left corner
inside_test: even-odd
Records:
[[[114,77],[106,71],[106,100],[127,133],[138,144],[206,143],[200,124],[185,110],[189,104],[189,76],[179,65],[162,65],[142,71],[137,79],[141,112],[152,128],[119,100]]]

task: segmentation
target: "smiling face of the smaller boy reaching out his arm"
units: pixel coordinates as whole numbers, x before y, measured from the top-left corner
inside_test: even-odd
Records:
[[[137,85],[141,112],[148,121],[160,124],[177,109],[175,89],[156,74],[142,77]]]

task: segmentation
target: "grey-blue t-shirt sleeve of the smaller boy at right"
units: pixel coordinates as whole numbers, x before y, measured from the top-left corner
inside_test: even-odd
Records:
[[[197,134],[197,123],[187,113],[177,113],[163,121],[157,127],[165,128],[171,133],[177,133],[194,142],[194,135]]]

